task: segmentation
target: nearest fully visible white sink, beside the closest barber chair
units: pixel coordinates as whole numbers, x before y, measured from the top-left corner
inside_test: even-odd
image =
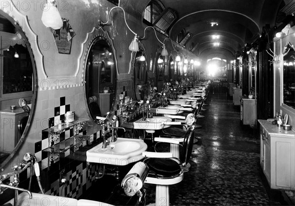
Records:
[[[111,140],[111,138],[109,138]],[[86,161],[101,164],[127,165],[143,158],[142,153],[148,148],[142,139],[118,137],[115,143],[102,148],[102,143],[86,152]]]

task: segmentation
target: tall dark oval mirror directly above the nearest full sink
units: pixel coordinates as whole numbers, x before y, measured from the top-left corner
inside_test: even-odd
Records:
[[[92,41],[85,62],[85,94],[89,114],[107,116],[113,108],[116,89],[116,59],[111,40],[104,35]]]

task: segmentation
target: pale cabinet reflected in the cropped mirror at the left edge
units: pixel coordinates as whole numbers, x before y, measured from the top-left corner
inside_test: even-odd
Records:
[[[0,151],[11,153],[17,145],[20,135],[18,122],[27,115],[22,108],[0,110]]]

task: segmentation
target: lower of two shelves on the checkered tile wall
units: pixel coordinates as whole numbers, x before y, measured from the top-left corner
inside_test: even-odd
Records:
[[[64,153],[70,148],[73,148],[75,146],[79,146],[80,143],[89,140],[90,136],[87,135],[80,135],[77,134],[75,136],[70,137],[69,139],[66,139],[58,144],[55,144],[47,149],[47,152],[50,153]]]

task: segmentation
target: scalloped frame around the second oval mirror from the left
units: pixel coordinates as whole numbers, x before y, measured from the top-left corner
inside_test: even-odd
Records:
[[[89,111],[89,106],[88,106],[88,101],[87,101],[87,97],[86,97],[86,86],[85,86],[85,83],[86,83],[86,68],[87,68],[87,62],[88,62],[88,55],[89,55],[89,51],[90,49],[92,48],[92,45],[93,43],[96,42],[97,38],[99,39],[103,39],[107,42],[107,44],[110,46],[112,52],[113,52],[113,57],[114,57],[114,74],[115,75],[115,91],[114,91],[114,101],[112,103],[112,107],[111,107],[111,110],[110,110],[110,113],[109,115],[107,115],[107,118],[110,117],[110,114],[114,113],[115,112],[115,105],[117,105],[116,101],[117,101],[117,98],[116,98],[116,91],[117,91],[117,77],[118,77],[118,62],[117,62],[117,55],[116,55],[116,50],[114,48],[114,44],[113,44],[113,41],[112,39],[110,38],[109,34],[107,31],[103,30],[102,27],[99,27],[99,28],[95,28],[93,27],[92,31],[90,31],[89,33],[87,33],[87,36],[86,36],[86,39],[85,41],[82,43],[83,45],[83,49],[82,49],[82,54],[83,55],[83,69],[82,69],[82,72],[83,72],[83,75],[82,75],[82,82],[83,82],[83,86],[84,86],[84,99],[85,99],[85,105],[86,105],[86,108],[87,108],[87,113],[89,115],[89,117],[94,121],[94,122],[97,122],[97,120],[95,118],[92,118],[92,115]],[[82,58],[82,55],[80,55]]]

